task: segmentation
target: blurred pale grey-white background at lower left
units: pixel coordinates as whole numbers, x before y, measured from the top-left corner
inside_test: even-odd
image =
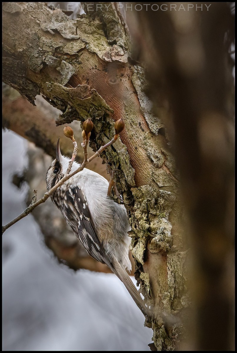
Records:
[[[27,167],[27,142],[5,131],[2,150],[5,225],[26,207],[27,185],[11,181]],[[59,264],[32,215],[6,230],[2,247],[3,351],[150,351],[152,330],[122,282]]]

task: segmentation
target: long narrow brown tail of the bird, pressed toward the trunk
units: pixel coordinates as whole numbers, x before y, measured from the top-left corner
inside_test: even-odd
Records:
[[[144,300],[142,300],[140,293],[138,292],[134,283],[130,279],[126,270],[120,265],[120,263],[116,259],[113,259],[113,261],[112,261],[111,270],[123,282],[124,286],[127,288],[131,297],[133,298],[133,300],[135,301],[136,305],[139,307],[141,312],[144,314],[144,316],[150,317],[151,316],[150,309],[148,307],[146,307]]]

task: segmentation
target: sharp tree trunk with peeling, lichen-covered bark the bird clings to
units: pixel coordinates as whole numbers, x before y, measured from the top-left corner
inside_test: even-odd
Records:
[[[57,125],[90,117],[93,149],[113,137],[114,121],[123,118],[121,140],[102,158],[119,169],[135,275],[154,310],[146,324],[157,350],[173,350],[189,305],[178,175],[164,126],[143,93],[144,70],[130,59],[127,27],[113,3],[105,4],[106,13],[71,20],[44,3],[3,3],[3,80],[33,104],[37,94],[45,96],[62,111]]]

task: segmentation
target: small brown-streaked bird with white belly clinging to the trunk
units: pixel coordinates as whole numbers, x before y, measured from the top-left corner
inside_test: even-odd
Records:
[[[48,191],[66,175],[68,163],[69,158],[61,154],[58,140],[56,158],[46,174]],[[79,167],[79,163],[73,162],[71,172]],[[128,256],[131,228],[127,211],[123,204],[107,196],[108,186],[102,175],[84,168],[50,197],[87,253],[119,277],[144,316],[149,316],[149,308],[126,271],[132,269]]]

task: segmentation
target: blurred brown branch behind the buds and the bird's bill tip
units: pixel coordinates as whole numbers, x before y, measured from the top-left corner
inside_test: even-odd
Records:
[[[2,127],[8,128],[18,135],[33,142],[51,157],[55,158],[57,140],[60,138],[60,149],[62,154],[71,158],[73,144],[70,139],[65,138],[62,129],[55,130],[55,120],[60,110],[52,107],[42,96],[37,96],[36,107],[32,106],[16,90],[3,84],[2,89]],[[74,121],[71,124],[74,137],[80,146],[82,142],[80,123]],[[88,156],[91,157],[94,152],[89,148]],[[82,163],[84,160],[83,149],[79,148],[76,161]],[[103,175],[109,180],[105,164],[97,158],[92,160],[89,169]]]

